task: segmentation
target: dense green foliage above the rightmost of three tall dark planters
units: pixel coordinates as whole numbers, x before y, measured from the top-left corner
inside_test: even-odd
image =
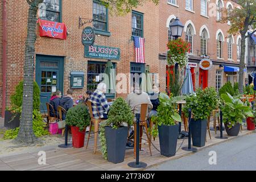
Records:
[[[218,107],[219,99],[214,88],[200,88],[196,94],[191,94],[185,98],[186,104],[183,107],[185,115],[188,117],[188,109],[191,108],[195,120],[207,119],[210,113]]]

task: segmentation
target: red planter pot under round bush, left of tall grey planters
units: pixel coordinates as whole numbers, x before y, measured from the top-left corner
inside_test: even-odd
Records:
[[[85,129],[79,131],[79,127],[71,126],[72,145],[74,148],[84,147]]]

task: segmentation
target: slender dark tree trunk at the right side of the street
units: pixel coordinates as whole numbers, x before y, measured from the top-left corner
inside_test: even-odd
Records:
[[[238,80],[238,90],[239,93],[243,93],[243,69],[245,68],[245,34],[241,34],[241,57],[239,65],[239,80]]]

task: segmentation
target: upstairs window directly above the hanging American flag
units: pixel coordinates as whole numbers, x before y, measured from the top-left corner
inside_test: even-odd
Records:
[[[131,35],[143,37],[143,14],[133,11],[132,15]]]

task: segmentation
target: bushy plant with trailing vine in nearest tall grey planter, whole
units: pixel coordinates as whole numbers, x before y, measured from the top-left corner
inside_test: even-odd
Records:
[[[128,126],[133,125],[133,112],[123,98],[117,98],[110,106],[108,119],[101,123],[101,152],[112,163],[125,160]]]

